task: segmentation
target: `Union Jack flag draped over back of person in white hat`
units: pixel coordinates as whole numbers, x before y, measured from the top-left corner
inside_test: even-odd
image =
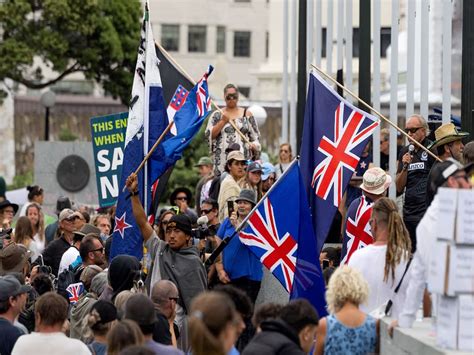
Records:
[[[352,201],[347,210],[341,264],[348,264],[356,250],[374,242],[369,223],[371,215],[372,202],[365,196]]]

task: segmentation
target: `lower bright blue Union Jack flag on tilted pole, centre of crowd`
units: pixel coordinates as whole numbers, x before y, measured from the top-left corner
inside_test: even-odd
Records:
[[[326,314],[319,253],[296,161],[259,202],[239,237],[291,298],[306,298],[320,316]]]

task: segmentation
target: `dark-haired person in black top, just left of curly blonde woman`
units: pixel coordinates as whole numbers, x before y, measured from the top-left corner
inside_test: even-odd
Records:
[[[262,331],[247,345],[247,354],[308,354],[314,346],[319,317],[305,299],[283,306],[279,319],[261,323]]]

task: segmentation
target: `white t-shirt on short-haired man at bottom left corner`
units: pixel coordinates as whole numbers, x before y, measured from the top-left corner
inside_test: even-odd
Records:
[[[77,339],[68,338],[63,333],[36,333],[18,338],[12,355],[90,355],[87,346]]]

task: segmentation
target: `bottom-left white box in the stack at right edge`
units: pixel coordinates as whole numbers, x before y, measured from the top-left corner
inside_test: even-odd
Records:
[[[436,324],[436,345],[448,349],[457,348],[458,306],[457,297],[440,297]]]

